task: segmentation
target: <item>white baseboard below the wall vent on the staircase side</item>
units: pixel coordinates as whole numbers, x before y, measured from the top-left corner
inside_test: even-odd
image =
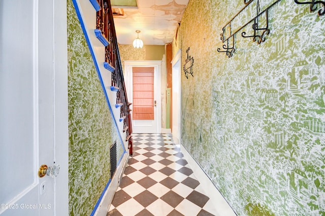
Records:
[[[107,212],[112,203],[117,187],[119,186],[120,180],[122,178],[127,161],[128,161],[128,151],[124,153],[120,164],[116,168],[112,181],[110,182],[97,210],[95,211],[94,216],[107,215]]]

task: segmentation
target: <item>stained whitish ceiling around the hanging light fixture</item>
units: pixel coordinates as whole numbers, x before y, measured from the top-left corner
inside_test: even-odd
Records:
[[[114,16],[117,42],[132,44],[139,38],[144,45],[165,45],[173,38],[189,0],[138,0],[138,8],[123,8],[124,16]]]

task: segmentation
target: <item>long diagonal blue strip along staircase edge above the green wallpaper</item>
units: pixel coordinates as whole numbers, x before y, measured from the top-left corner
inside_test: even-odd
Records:
[[[87,41],[87,44],[88,44],[88,47],[89,47],[89,51],[91,53],[91,57],[92,57],[92,60],[94,62],[94,66],[96,68],[96,71],[97,71],[97,74],[98,74],[98,77],[100,79],[100,82],[101,82],[101,85],[102,85],[102,88],[103,88],[103,91],[104,91],[104,95],[105,95],[105,98],[106,98],[106,102],[107,102],[107,105],[108,105],[108,108],[111,112],[111,115],[114,119],[114,125],[115,125],[115,128],[116,128],[116,131],[117,131],[117,134],[120,138],[120,141],[121,141],[121,145],[122,145],[122,148],[124,150],[124,152],[126,152],[125,150],[125,147],[124,147],[124,141],[122,139],[122,135],[120,134],[120,131],[118,130],[118,126],[117,126],[117,119],[115,119],[115,116],[114,116],[114,113],[113,113],[113,110],[112,110],[112,106],[110,104],[110,101],[108,99],[108,95],[107,95],[107,92],[106,92],[106,88],[105,88],[105,85],[104,85],[104,81],[103,81],[103,78],[102,78],[102,75],[100,73],[100,68],[99,68],[99,64],[97,63],[97,60],[95,58],[95,54],[94,54],[94,50],[93,48],[91,47],[91,44],[90,44],[90,37],[89,35],[87,34],[87,30],[86,30],[86,26],[85,26],[85,23],[84,21],[82,20],[82,16],[81,16],[81,12],[80,12],[80,9],[79,9],[79,6],[78,6],[78,3],[77,3],[77,0],[72,0],[73,2],[73,5],[75,7],[75,10],[76,10],[76,13],[77,13],[77,16],[78,16],[78,19],[79,19],[79,22],[80,22],[80,25],[81,25],[81,28],[82,28],[82,31],[83,31],[83,34],[85,35],[85,39]]]

